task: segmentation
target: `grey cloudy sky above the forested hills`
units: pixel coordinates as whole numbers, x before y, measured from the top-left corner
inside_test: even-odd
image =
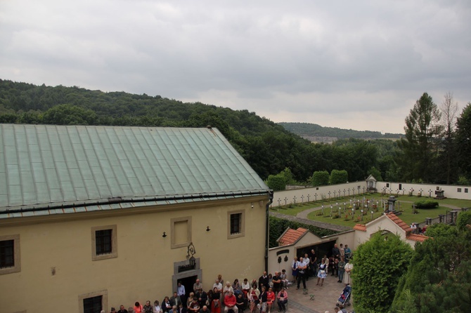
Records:
[[[471,1],[0,0],[0,79],[402,133],[471,101]]]

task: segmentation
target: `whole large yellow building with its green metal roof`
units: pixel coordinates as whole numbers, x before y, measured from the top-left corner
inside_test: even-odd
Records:
[[[1,312],[109,312],[267,267],[271,191],[217,129],[1,124],[0,140]]]

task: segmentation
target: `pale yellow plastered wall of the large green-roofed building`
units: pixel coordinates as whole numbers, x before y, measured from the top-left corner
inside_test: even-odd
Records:
[[[183,206],[172,211],[130,213],[120,209],[75,213],[28,220],[1,220],[0,236],[20,234],[21,272],[0,275],[1,312],[79,312],[78,297],[108,291],[108,307],[131,306],[136,300],[162,301],[172,293],[174,262],[186,260],[186,247],[170,248],[170,219],[192,218],[195,258],[200,258],[205,290],[217,274],[224,279],[259,277],[264,270],[265,204],[268,197],[252,197],[232,204],[219,201]],[[262,201],[260,201],[262,200]],[[254,204],[252,208],[251,204]],[[171,208],[171,206],[169,207]],[[245,236],[227,239],[227,211],[245,210]],[[67,218],[57,222],[44,222]],[[84,219],[82,219],[84,218]],[[5,225],[8,223],[9,225]],[[117,258],[91,260],[91,227],[117,225]],[[209,226],[210,232],[206,231]],[[162,232],[169,236],[162,238]],[[55,267],[56,274],[51,274]]]

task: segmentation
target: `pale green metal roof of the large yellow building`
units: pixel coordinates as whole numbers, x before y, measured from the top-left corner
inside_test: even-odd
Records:
[[[0,124],[2,213],[268,192],[215,128]]]

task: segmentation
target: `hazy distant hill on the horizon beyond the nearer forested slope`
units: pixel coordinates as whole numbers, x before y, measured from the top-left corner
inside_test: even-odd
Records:
[[[333,142],[338,139],[399,139],[402,134],[385,133],[379,131],[354,131],[353,129],[343,129],[337,127],[323,127],[318,124],[310,123],[287,123],[281,122],[278,125],[283,126],[287,131],[295,133],[311,142]]]

